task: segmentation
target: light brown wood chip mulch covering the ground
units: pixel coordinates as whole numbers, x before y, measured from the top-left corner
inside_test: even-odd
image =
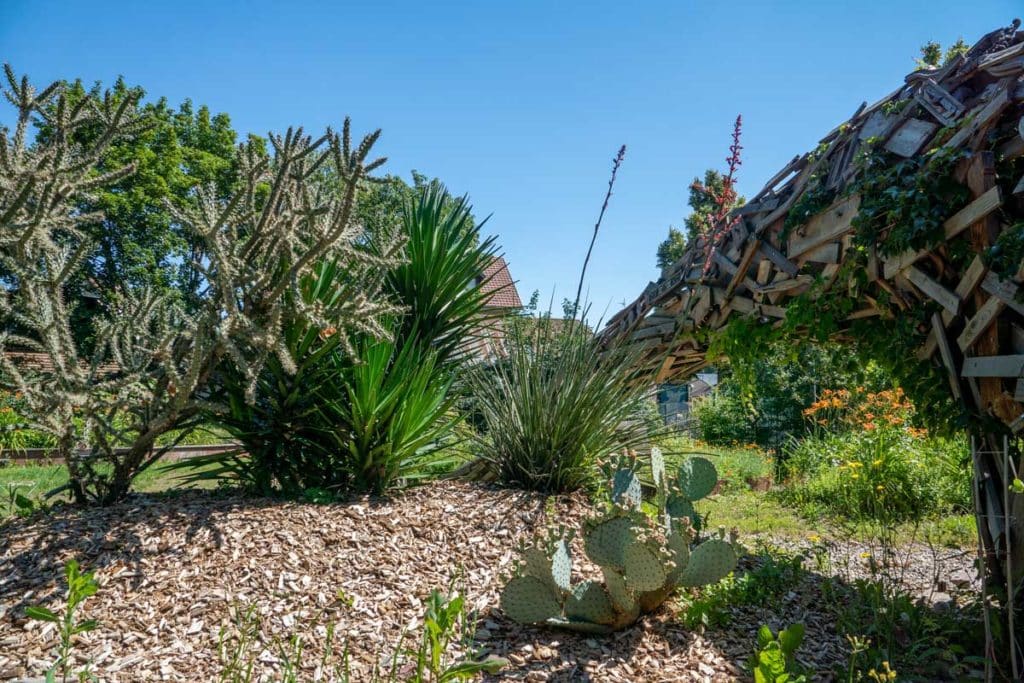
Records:
[[[104,681],[218,680],[221,634],[234,634],[231,615],[250,605],[259,680],[280,678],[281,643],[295,633],[309,636],[301,680],[332,680],[318,669],[327,624],[337,625],[335,651],[347,644],[351,680],[368,680],[403,630],[417,633],[430,590],[453,585],[480,612],[477,645],[511,661],[493,680],[748,680],[757,628],[798,621],[808,625],[805,664],[828,671],[845,659],[812,585],[734,609],[728,629],[702,634],[668,609],[604,638],[509,622],[495,605],[519,543],[590,510],[582,498],[552,500],[455,482],[334,505],[187,492],[0,522],[0,680],[41,676],[53,660],[54,629],[25,608],[62,605],[71,558],[100,584],[83,608],[99,628],[78,637],[76,653]]]

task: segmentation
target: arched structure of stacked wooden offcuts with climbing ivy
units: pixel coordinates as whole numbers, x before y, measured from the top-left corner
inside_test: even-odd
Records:
[[[1016,274],[1000,278],[990,270],[989,256],[1005,231],[1024,236],[1024,177],[996,172],[997,166],[1008,168],[1006,162],[1024,157],[1024,32],[1019,26],[1015,20],[993,31],[967,54],[940,69],[915,71],[878,102],[861,104],[817,150],[794,158],[735,210],[734,224],[716,244],[691,244],[602,331],[606,343],[636,348],[655,381],[691,376],[708,365],[705,332],[722,330],[740,316],[777,324],[786,315],[786,304],[812,287],[816,296],[850,291],[850,270],[843,265],[858,249],[853,220],[861,202],[851,189],[858,173],[853,162],[865,144],[904,159],[937,147],[963,153],[954,176],[968,188],[970,201],[945,219],[944,240],[888,256],[871,249],[866,273],[857,273],[860,282],[866,274],[868,285],[858,290],[860,307],[848,321],[934,310],[920,330],[927,341],[916,355],[941,369],[952,396],[977,425],[982,564],[989,593],[1001,592],[1002,600],[1017,607],[1024,604],[1024,495],[1008,492],[1020,472],[1020,452],[1004,443],[1008,437],[1016,442],[1024,431],[1024,263]],[[801,199],[822,189],[838,199],[806,219],[791,219]],[[969,265],[957,266],[951,254],[964,249],[970,252]],[[879,305],[882,299],[890,305]],[[1002,612],[1010,634],[1015,633],[1014,611]],[[1008,661],[1006,673],[1012,669],[1019,678],[1024,668],[1015,652],[993,659]]]

